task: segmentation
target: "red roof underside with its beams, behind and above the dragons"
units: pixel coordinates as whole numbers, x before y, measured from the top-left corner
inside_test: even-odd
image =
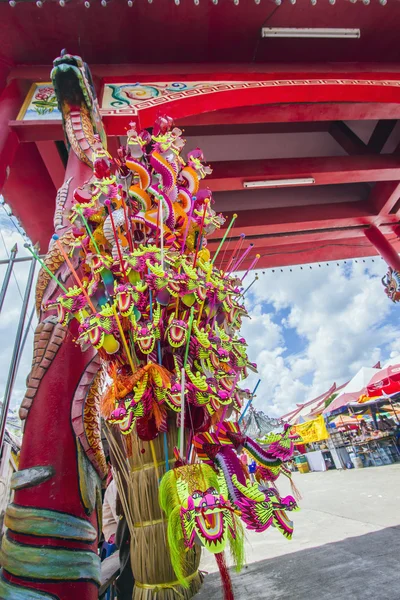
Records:
[[[190,77],[188,73],[193,77],[194,72],[211,71],[218,77],[219,73],[244,71],[251,78],[250,74],[257,72],[285,77],[288,71],[300,70],[303,74],[351,72],[355,77],[375,70],[398,78],[398,0],[388,0],[386,6],[379,0],[371,0],[369,6],[361,0],[356,4],[336,0],[334,6],[328,0],[317,0],[315,7],[309,0],[297,0],[294,6],[283,0],[280,7],[272,0],[261,0],[259,5],[254,0],[239,0],[239,6],[234,6],[233,0],[219,0],[217,6],[211,0],[199,0],[199,6],[193,0],[180,1],[176,6],[174,0],[153,0],[151,4],[134,0],[129,8],[125,0],[110,0],[104,8],[100,0],[93,0],[91,8],[85,9],[80,0],[70,0],[65,8],[47,0],[39,9],[24,0],[13,9],[0,0],[0,85],[13,65],[18,68],[11,76],[26,80],[26,85],[29,80],[46,78],[62,48],[81,55],[100,79],[136,72],[139,80],[148,81],[146,76],[160,75],[160,64],[163,73],[179,72],[183,79]],[[356,27],[361,39],[262,40],[263,25]],[[347,64],[340,66],[340,62]],[[379,64],[371,68],[371,63]],[[44,66],[20,68],[23,64]],[[210,104],[210,112],[183,120],[192,144],[203,147],[214,163],[209,185],[216,192],[217,210],[228,220],[233,211],[239,213],[232,236],[246,233],[248,242],[254,242],[261,254],[261,267],[375,254],[365,237],[372,224],[400,249],[400,129],[391,129],[389,124],[385,133],[387,125],[378,122],[399,119],[399,104],[367,99],[368,104],[314,104],[316,99],[310,98],[307,103],[293,100],[297,103],[219,111]],[[355,121],[358,119],[362,121]],[[347,125],[343,123],[346,120]],[[120,131],[113,133],[121,135]],[[382,144],[376,145],[376,139],[373,143],[375,133]],[[18,155],[5,197],[34,241],[40,238],[45,247],[52,228],[55,185],[63,172],[54,146],[54,140],[61,139],[61,127],[31,123],[19,127],[18,135],[22,142],[19,153],[30,152],[33,171],[28,181],[15,183],[19,165],[27,158],[21,161]],[[111,139],[115,145],[116,138]],[[305,173],[313,174],[315,186],[243,190],[243,181],[249,177]],[[39,221],[31,218],[32,204],[25,201],[34,175],[43,183]],[[210,247],[217,243],[214,239]]]

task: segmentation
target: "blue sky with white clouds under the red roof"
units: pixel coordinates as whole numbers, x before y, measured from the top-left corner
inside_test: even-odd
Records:
[[[15,242],[19,256],[27,251],[24,239],[0,208],[0,258]],[[362,366],[373,366],[400,354],[400,307],[386,297],[381,277],[386,265],[380,258],[356,259],[259,271],[259,280],[246,295],[251,319],[242,333],[249,356],[259,367],[243,387],[258,388],[255,406],[271,416],[281,416],[329,389],[344,383]],[[24,293],[29,265],[15,266],[15,278]],[[0,281],[5,266],[0,266]],[[249,285],[254,274],[249,274]],[[10,282],[0,315],[0,397],[7,372],[22,300],[15,278]],[[33,299],[32,299],[33,301]],[[32,302],[31,302],[32,305]],[[33,331],[21,360],[12,404],[18,406],[30,369]]]

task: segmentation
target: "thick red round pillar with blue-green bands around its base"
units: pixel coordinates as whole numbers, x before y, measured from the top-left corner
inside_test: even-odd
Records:
[[[71,153],[67,175],[66,210],[91,170]],[[101,480],[83,449],[83,406],[99,359],[75,343],[76,322],[67,331],[48,317],[35,332],[36,362],[22,402],[26,425],[5,515],[0,598],[98,600]]]

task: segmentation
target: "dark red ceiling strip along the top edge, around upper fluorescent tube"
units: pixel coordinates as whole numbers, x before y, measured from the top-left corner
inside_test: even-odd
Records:
[[[11,8],[0,3],[1,57],[6,63],[49,64],[63,47],[90,64],[159,62],[385,62],[400,60],[398,29],[400,2],[389,0],[369,6],[359,0],[111,0],[107,7],[81,0],[61,8],[54,0],[37,8],[19,2]],[[265,39],[269,27],[356,27],[360,40]],[[0,57],[0,62],[1,62]]]

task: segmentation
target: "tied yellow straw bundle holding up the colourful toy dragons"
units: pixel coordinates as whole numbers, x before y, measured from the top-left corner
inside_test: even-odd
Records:
[[[177,441],[174,420],[168,423],[169,464],[174,462]],[[131,533],[131,565],[135,577],[133,600],[189,600],[203,581],[198,571],[201,550],[187,553],[189,587],[178,582],[170,561],[167,519],[158,503],[159,481],[165,473],[163,434],[143,442],[135,432],[120,436],[117,428],[108,428],[107,438],[118,464],[115,480]]]

